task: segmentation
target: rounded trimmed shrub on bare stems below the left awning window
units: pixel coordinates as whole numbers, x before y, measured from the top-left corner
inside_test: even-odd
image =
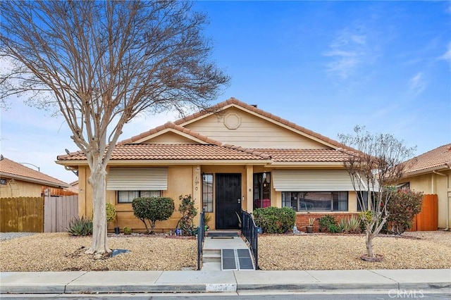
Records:
[[[155,222],[168,220],[174,212],[174,201],[166,197],[140,197],[132,201],[133,214],[142,220],[147,233],[153,233]],[[147,222],[150,225],[150,231]]]

